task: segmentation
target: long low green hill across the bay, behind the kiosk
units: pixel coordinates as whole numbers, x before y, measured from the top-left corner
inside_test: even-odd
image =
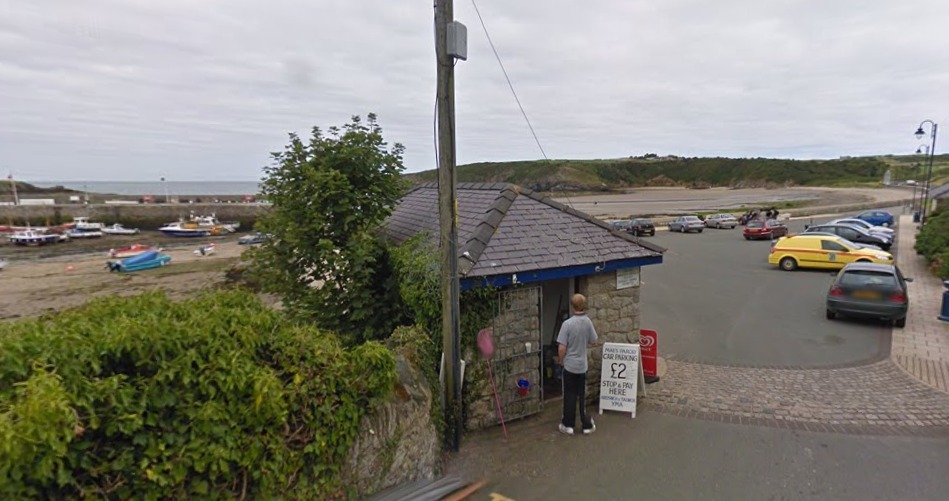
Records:
[[[836,160],[770,158],[629,157],[614,160],[490,162],[458,167],[458,182],[508,182],[540,191],[605,191],[637,186],[761,187],[876,186],[890,169],[893,180],[922,179],[919,155]],[[949,155],[937,155],[934,180],[949,175]],[[407,175],[435,181],[437,171]],[[934,185],[937,184],[934,181]]]

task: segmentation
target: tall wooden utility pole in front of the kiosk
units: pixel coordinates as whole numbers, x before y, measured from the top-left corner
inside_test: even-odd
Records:
[[[458,206],[455,193],[455,69],[448,54],[452,0],[436,0],[435,54],[438,64],[438,221],[441,248],[442,353],[445,436],[448,448],[461,444],[461,351],[458,304]]]

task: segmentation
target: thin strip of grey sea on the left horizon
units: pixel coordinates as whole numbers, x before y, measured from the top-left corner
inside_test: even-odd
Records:
[[[76,191],[110,195],[257,195],[257,181],[26,181],[40,188],[63,186]],[[167,190],[167,191],[166,191]]]

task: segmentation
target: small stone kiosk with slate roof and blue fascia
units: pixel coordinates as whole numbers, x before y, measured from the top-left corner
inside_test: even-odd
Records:
[[[545,399],[560,396],[552,356],[575,292],[587,296],[587,314],[599,334],[598,346],[588,351],[587,395],[595,401],[601,345],[639,341],[640,270],[661,264],[665,249],[515,185],[463,183],[457,196],[461,289],[498,291],[497,314],[485,327],[493,330],[491,364],[505,420],[538,412]],[[396,243],[421,232],[437,241],[437,185],[406,194],[385,231]],[[480,353],[463,352],[462,358],[466,425],[499,423],[491,384],[475,377],[486,373],[486,362]]]

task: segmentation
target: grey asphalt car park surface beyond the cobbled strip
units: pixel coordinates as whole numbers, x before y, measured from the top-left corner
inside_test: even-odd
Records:
[[[804,221],[789,226],[801,231]],[[643,269],[642,277],[641,326],[659,331],[660,355],[788,367],[840,366],[885,355],[889,327],[824,318],[828,272],[789,273],[768,265],[770,241],[746,241],[740,226],[660,232],[650,240],[669,249],[664,263]]]

